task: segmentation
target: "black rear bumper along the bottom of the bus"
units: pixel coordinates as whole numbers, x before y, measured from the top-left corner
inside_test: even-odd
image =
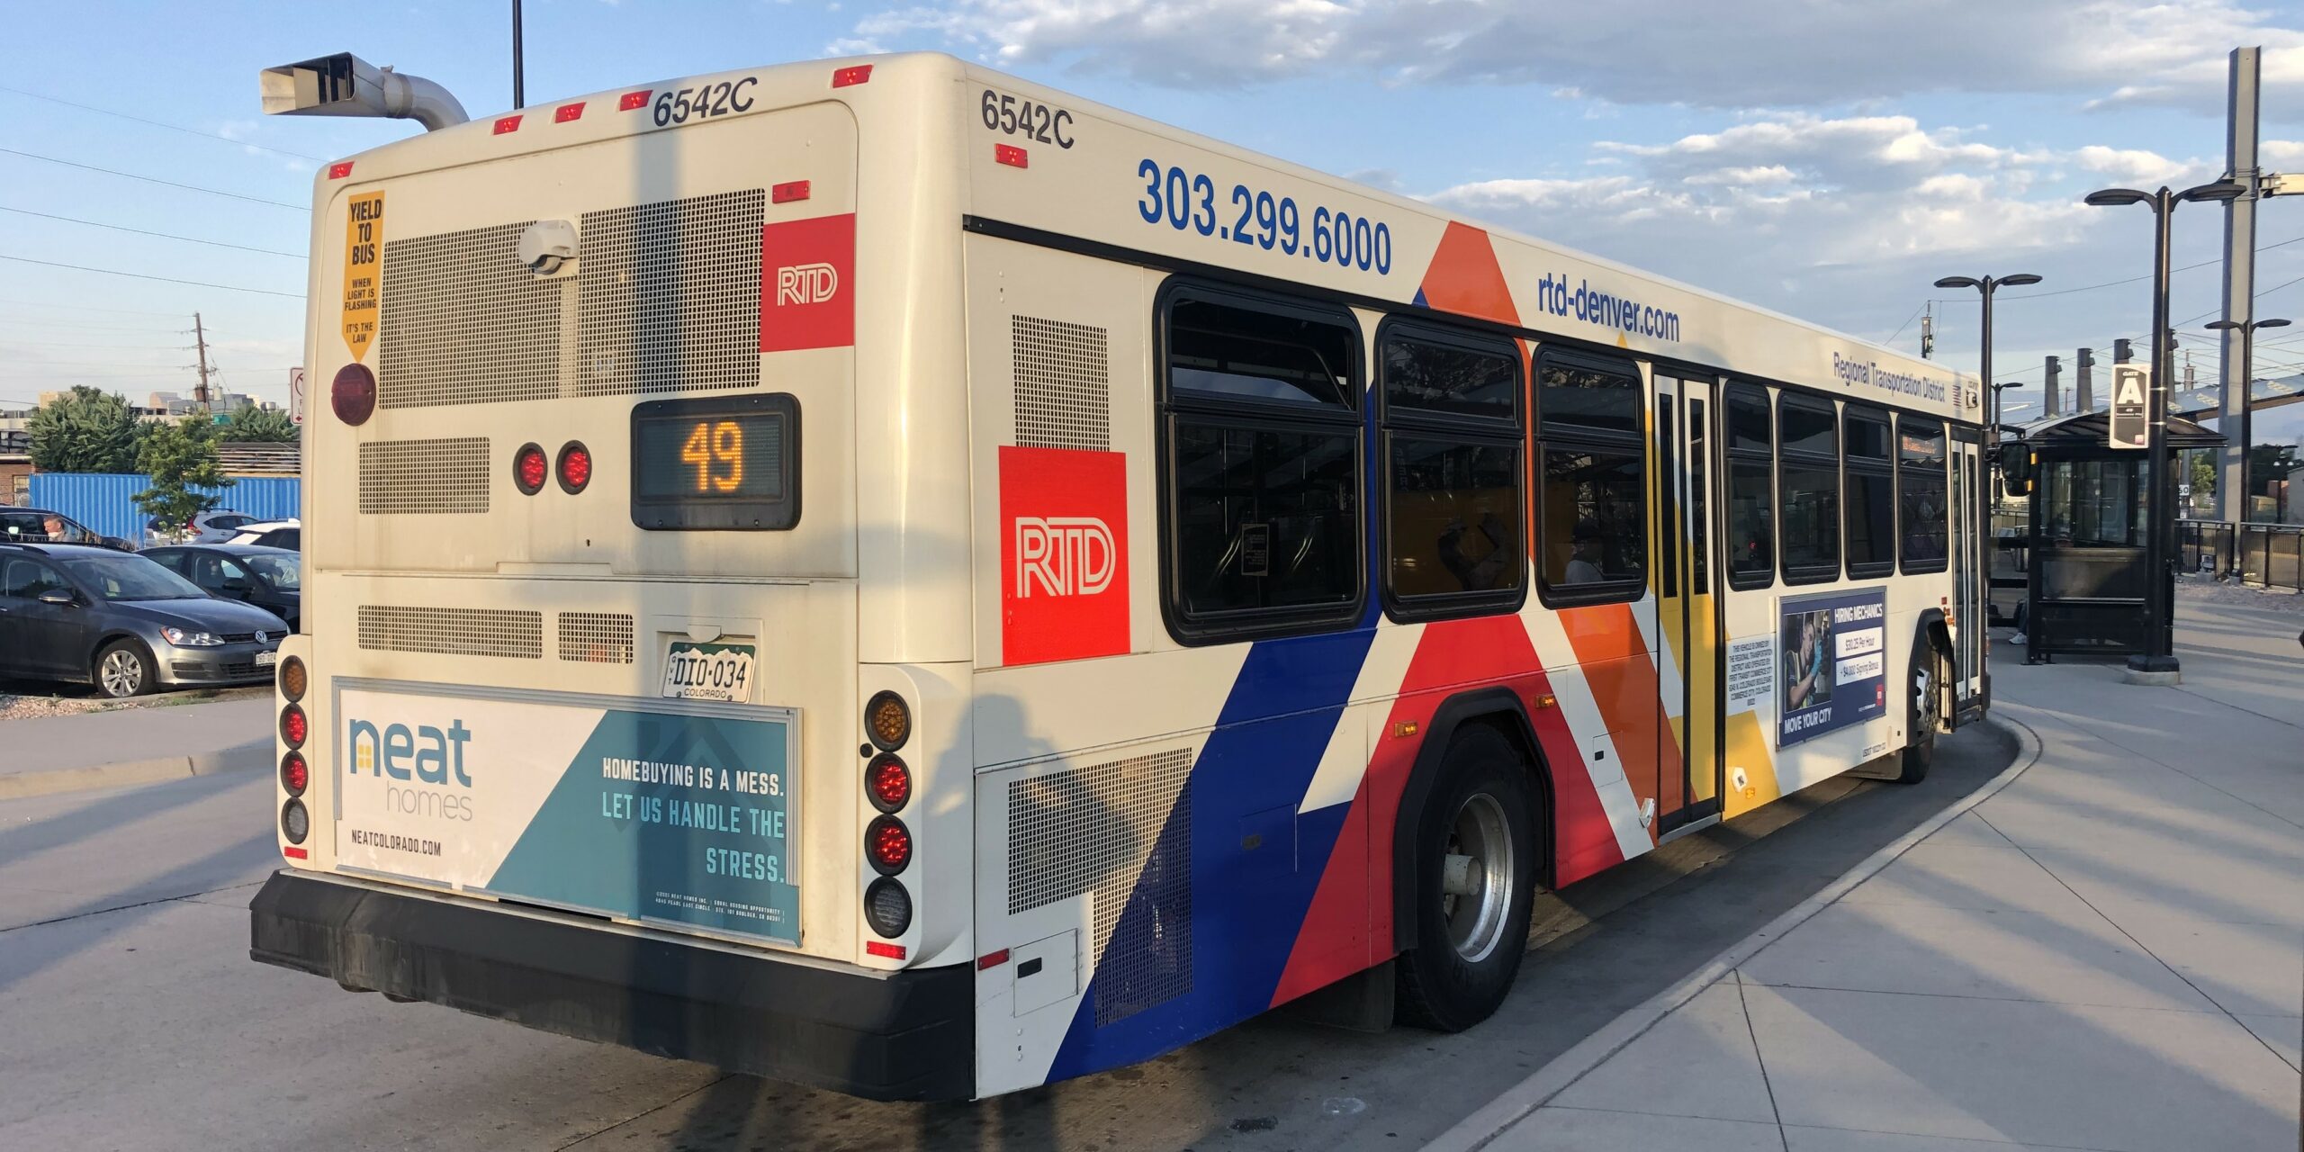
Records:
[[[866,1099],[975,1092],[968,965],[834,972],[293,869],[249,915],[251,958],[355,991]]]

